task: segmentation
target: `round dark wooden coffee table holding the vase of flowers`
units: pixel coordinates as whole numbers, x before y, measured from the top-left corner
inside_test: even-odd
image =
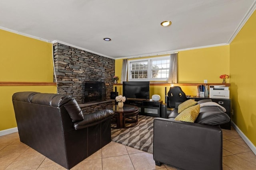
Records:
[[[117,105],[114,105],[107,109],[112,109],[115,112],[111,119],[111,124],[116,124],[116,127],[111,126],[111,128],[130,128],[138,124],[139,108],[137,106],[125,104],[122,108],[119,108]],[[130,123],[131,125],[126,126],[126,123]]]

